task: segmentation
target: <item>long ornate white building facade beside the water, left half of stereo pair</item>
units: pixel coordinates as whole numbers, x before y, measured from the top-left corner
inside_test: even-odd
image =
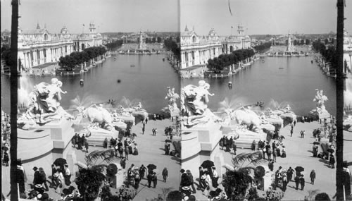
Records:
[[[50,34],[37,25],[35,30],[18,28],[18,59],[22,68],[29,69],[44,63],[57,62],[61,56],[87,47],[101,46],[103,39],[91,24],[89,34],[70,35],[63,27],[59,34]]]

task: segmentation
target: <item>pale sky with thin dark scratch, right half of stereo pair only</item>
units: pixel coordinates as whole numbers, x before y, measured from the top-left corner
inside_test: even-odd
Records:
[[[244,25],[246,35],[337,32],[337,0],[180,0],[181,29],[231,35]],[[229,10],[229,1],[232,15]],[[346,1],[345,28],[352,34],[352,1]],[[231,28],[233,27],[233,28]]]

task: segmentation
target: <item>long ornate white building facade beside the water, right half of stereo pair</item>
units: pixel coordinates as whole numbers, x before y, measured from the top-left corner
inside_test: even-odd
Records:
[[[220,54],[230,54],[237,49],[251,47],[251,39],[243,34],[239,26],[238,35],[219,37],[215,30],[210,30],[206,36],[199,36],[194,30],[189,31],[187,26],[181,33],[181,69],[191,66],[206,66],[208,59],[214,59]]]

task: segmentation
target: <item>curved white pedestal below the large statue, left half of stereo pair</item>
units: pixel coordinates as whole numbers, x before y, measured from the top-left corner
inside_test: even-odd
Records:
[[[42,126],[34,124],[29,128],[30,130],[17,129],[17,153],[18,158],[22,159],[25,169],[32,169],[33,166],[40,164],[48,173],[55,159],[64,158],[74,175],[77,166],[74,165],[76,155],[71,144],[71,139],[75,135],[72,126],[73,121],[61,118]],[[32,175],[32,171],[27,171],[27,176],[32,177]]]

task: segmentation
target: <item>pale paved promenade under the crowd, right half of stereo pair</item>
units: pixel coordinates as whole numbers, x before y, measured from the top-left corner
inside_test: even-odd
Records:
[[[308,196],[309,190],[320,190],[320,192],[325,192],[332,197],[336,193],[336,169],[331,169],[329,162],[324,159],[313,157],[312,147],[315,139],[313,138],[313,130],[319,128],[320,124],[317,121],[311,123],[297,123],[294,128],[294,134],[291,137],[289,130],[290,126],[286,126],[280,130],[280,135],[284,135],[285,140],[283,141],[287,150],[287,157],[281,158],[277,157],[277,162],[274,164],[274,172],[277,171],[279,166],[284,169],[289,169],[289,166],[294,169],[296,166],[303,166],[305,171],[304,175],[306,178],[306,186],[304,190],[296,190],[296,185],[294,181],[289,182],[287,185],[287,190],[284,194],[282,200],[303,200],[304,196]],[[299,134],[301,130],[306,130],[305,138],[301,138]],[[271,146],[270,142],[270,146]],[[344,131],[344,160],[349,163],[352,162],[352,133]],[[237,149],[237,154],[241,152],[251,152],[251,150],[241,150]],[[225,163],[232,165],[231,159],[234,157],[233,151],[224,153]],[[336,158],[336,157],[335,157]],[[268,163],[263,164],[267,166]],[[336,164],[335,164],[336,166]],[[351,170],[351,166],[349,167]],[[309,173],[312,169],[316,172],[316,180],[314,185],[310,184]],[[196,176],[196,174],[194,174]],[[221,181],[219,180],[219,183]],[[198,183],[198,181],[196,182]],[[221,188],[221,185],[220,185]],[[260,193],[260,191],[258,191]],[[206,196],[202,195],[200,190],[197,190],[195,194],[197,200],[206,200]],[[333,200],[333,199],[332,199]]]

